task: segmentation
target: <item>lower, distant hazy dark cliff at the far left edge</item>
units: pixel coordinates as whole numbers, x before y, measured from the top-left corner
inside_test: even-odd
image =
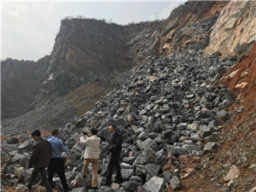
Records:
[[[1,119],[14,118],[34,108],[48,64],[49,56],[38,62],[1,61]]]

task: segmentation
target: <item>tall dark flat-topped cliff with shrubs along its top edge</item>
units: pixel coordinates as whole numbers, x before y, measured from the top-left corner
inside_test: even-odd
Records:
[[[101,20],[62,20],[38,105],[53,102],[83,84],[116,84],[122,73],[154,55],[153,34],[157,25],[145,22],[118,26]]]

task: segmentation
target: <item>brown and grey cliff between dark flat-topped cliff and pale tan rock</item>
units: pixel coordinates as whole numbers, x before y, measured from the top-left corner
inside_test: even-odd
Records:
[[[170,55],[179,48],[188,49],[188,44],[208,44],[208,32],[220,11],[229,2],[199,1],[187,2],[173,10],[163,27],[160,37],[160,55]],[[210,18],[212,18],[210,20]],[[208,20],[206,24],[200,21]],[[209,22],[210,21],[210,22]],[[206,46],[205,45],[205,46]]]

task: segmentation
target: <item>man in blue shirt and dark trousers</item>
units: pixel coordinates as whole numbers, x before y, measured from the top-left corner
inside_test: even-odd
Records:
[[[58,129],[51,131],[52,137],[48,139],[51,146],[51,154],[48,166],[48,178],[49,184],[52,186],[52,178],[55,172],[61,179],[61,184],[64,191],[70,190],[67,185],[67,178],[65,176],[64,160],[62,158],[62,152],[67,151],[64,143],[60,139],[60,132]]]

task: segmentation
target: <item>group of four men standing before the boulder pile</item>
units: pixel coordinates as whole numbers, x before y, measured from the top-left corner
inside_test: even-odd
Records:
[[[116,169],[115,183],[122,183],[123,177],[121,174],[121,168],[119,164],[120,154],[122,149],[123,138],[116,131],[114,125],[108,127],[110,134],[109,150],[110,158],[108,162],[108,177],[106,185],[112,184],[113,168]],[[32,150],[32,156],[30,158],[27,168],[32,168],[32,175],[27,184],[28,189],[32,189],[32,183],[34,182],[38,173],[40,174],[42,184],[44,185],[47,192],[53,192],[53,177],[55,172],[61,179],[61,184],[64,191],[69,191],[67,184],[67,178],[65,176],[64,160],[62,153],[67,151],[64,143],[60,139],[60,132],[58,129],[52,131],[52,137],[48,140],[44,140],[41,137],[41,132],[36,130],[32,131],[32,138],[36,141],[36,144]],[[82,133],[80,137],[80,143],[84,144],[84,166],[83,166],[83,177],[84,181],[88,173],[88,165],[92,165],[92,183],[91,189],[97,189],[98,185],[98,164],[100,158],[100,146],[101,138],[97,137],[97,130],[95,128],[90,129],[90,133]],[[48,168],[48,178],[46,174],[46,167]]]

